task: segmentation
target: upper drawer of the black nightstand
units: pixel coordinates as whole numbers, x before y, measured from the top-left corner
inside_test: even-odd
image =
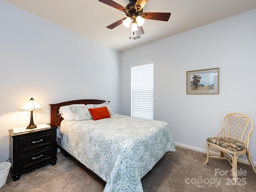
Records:
[[[44,134],[38,134],[36,136],[27,136],[20,138],[20,152],[26,152],[31,148],[36,148],[38,146],[46,146],[51,143],[51,134],[52,132],[47,132]]]

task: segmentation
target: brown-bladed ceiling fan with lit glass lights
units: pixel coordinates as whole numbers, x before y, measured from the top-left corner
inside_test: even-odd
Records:
[[[143,7],[148,0],[129,0],[129,4],[126,7],[112,1],[112,0],[99,0],[100,2],[112,6],[126,14],[127,17],[118,20],[107,26],[109,29],[113,29],[120,24],[124,24],[126,27],[130,27],[131,31],[137,31],[137,35],[144,34],[142,25],[145,19],[168,21],[171,13],[154,13],[154,12],[143,12]],[[132,23],[132,25],[130,25]],[[134,33],[134,32],[133,32]]]

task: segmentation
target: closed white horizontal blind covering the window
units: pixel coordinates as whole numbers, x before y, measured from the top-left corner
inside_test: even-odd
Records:
[[[154,64],[132,67],[131,116],[153,119]]]

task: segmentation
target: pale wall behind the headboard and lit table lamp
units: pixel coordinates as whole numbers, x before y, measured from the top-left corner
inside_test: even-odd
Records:
[[[18,108],[34,97],[50,122],[49,104],[110,100],[120,112],[120,52],[0,1],[0,162],[9,158],[9,129],[28,126]]]

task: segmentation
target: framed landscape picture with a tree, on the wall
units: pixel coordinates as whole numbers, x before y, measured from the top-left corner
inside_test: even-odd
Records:
[[[219,94],[219,68],[187,71],[187,94]]]

